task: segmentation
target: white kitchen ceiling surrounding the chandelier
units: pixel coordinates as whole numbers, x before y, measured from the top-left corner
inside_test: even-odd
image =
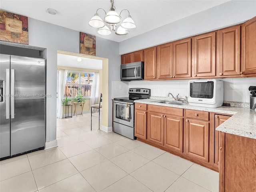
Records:
[[[100,36],[97,29],[88,25],[98,8],[103,8],[106,12],[110,9],[110,0],[0,0],[0,4],[2,10],[121,42],[228,1],[114,0],[116,12],[119,14],[121,10],[128,9],[137,25],[136,29],[124,36],[113,32],[109,36]],[[48,14],[48,8],[57,10],[57,14]],[[102,10],[99,10],[98,14],[104,17]],[[127,12],[122,12],[121,16],[126,18]]]

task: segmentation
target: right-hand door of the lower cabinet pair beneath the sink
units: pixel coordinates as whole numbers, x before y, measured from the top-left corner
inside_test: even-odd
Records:
[[[183,118],[164,116],[164,146],[183,152]]]

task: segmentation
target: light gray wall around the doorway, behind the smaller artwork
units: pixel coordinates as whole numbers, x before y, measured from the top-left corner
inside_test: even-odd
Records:
[[[80,36],[78,31],[32,18],[29,18],[28,26],[29,45],[47,48],[46,94],[52,95],[46,98],[46,141],[48,142],[56,139],[57,51],[79,53]],[[116,42],[96,38],[96,56],[109,59],[109,90],[111,90],[111,81],[120,79],[118,46]],[[109,91],[109,98],[111,98],[111,91]],[[112,114],[112,104],[109,105],[108,112]],[[111,118],[110,115],[109,126],[111,126]]]

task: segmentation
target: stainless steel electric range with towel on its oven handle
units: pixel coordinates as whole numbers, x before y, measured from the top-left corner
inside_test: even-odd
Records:
[[[129,97],[114,98],[113,131],[132,140],[134,137],[134,100],[149,99],[150,89],[130,88]]]

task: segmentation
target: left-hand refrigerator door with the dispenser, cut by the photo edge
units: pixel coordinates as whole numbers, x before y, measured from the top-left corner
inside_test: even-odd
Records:
[[[10,156],[10,55],[0,54],[0,158]]]

